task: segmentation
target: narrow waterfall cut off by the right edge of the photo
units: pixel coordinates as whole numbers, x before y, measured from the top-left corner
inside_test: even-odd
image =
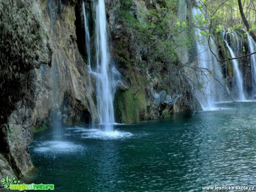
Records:
[[[250,53],[256,52],[256,43],[253,38],[247,33]],[[256,55],[250,56],[250,67],[252,73],[252,99],[256,100]]]

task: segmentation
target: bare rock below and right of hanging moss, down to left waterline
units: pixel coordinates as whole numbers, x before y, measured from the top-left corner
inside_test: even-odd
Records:
[[[28,150],[31,129],[51,125],[54,114],[63,125],[97,121],[95,104],[89,102],[93,91],[88,87],[87,66],[76,43],[76,2],[41,1],[37,8],[42,12],[44,41],[52,51],[51,63],[2,84],[0,155],[17,175],[33,167]],[[0,168],[6,170],[2,163]]]

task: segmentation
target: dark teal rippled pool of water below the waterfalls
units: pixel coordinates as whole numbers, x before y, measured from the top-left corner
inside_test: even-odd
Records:
[[[256,104],[219,106],[230,109],[117,125],[112,137],[86,127],[46,130],[30,148],[33,183],[63,192],[256,186]]]

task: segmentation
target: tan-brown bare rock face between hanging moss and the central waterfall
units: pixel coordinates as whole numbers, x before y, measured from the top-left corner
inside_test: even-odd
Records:
[[[60,111],[64,125],[74,124],[76,120],[88,123],[84,114],[97,121],[96,107],[93,102],[88,101],[91,90],[88,87],[87,66],[76,42],[75,4],[73,1],[66,1],[60,6],[58,1],[44,1],[42,8],[53,56],[51,67],[42,66],[40,70],[35,70],[34,122],[40,124],[45,119],[50,122],[49,111]]]

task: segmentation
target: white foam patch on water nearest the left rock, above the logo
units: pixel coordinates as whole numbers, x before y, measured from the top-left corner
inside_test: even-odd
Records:
[[[66,141],[43,141],[36,145],[35,152],[70,153],[82,149],[83,146]]]

